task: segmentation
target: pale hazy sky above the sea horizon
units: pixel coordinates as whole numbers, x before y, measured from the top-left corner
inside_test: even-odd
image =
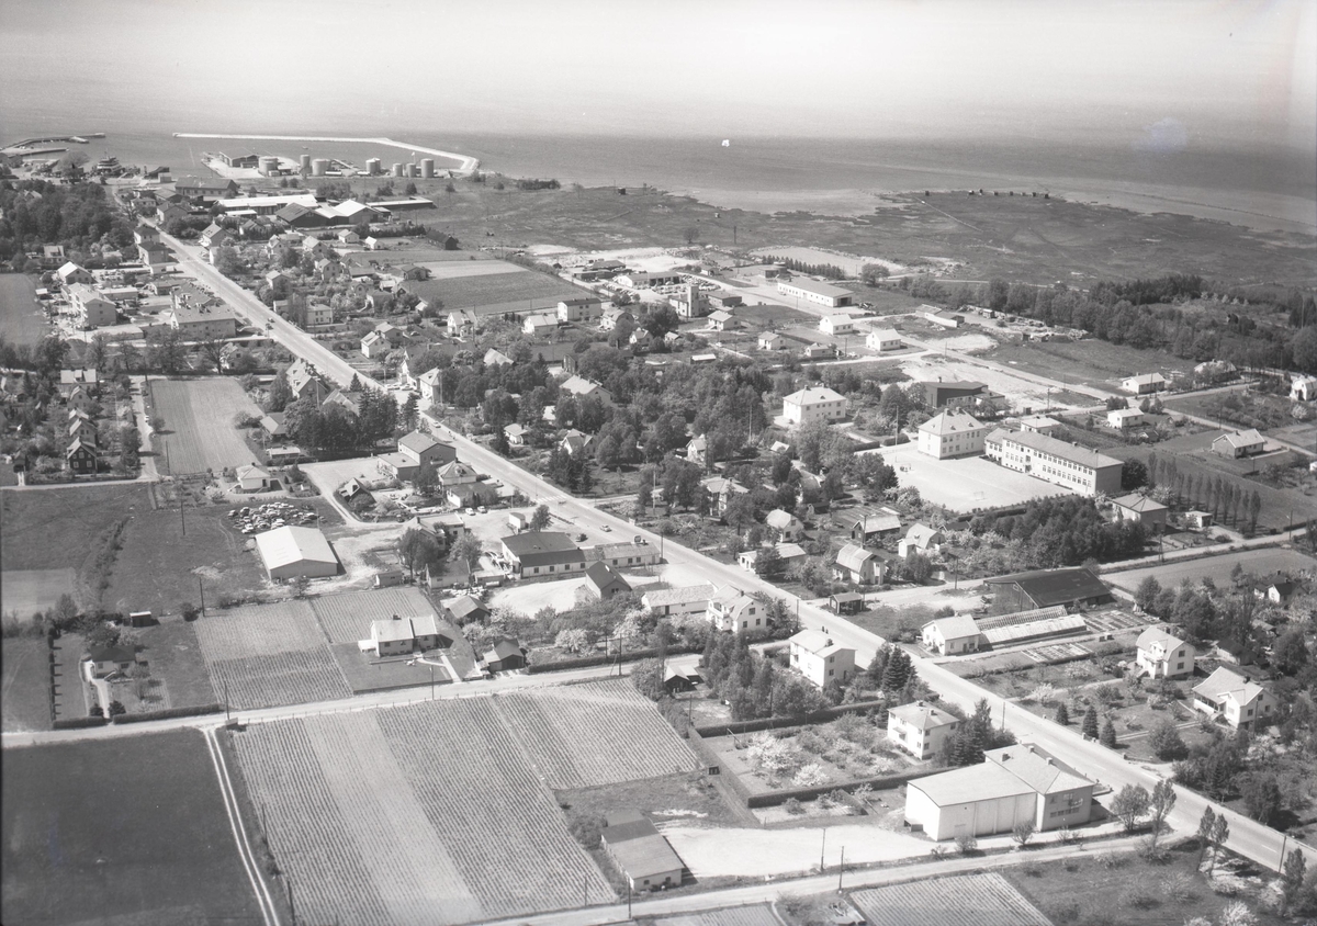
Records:
[[[170,130],[1115,128],[1154,150],[1312,150],[1317,3],[0,0],[0,134],[36,108]]]

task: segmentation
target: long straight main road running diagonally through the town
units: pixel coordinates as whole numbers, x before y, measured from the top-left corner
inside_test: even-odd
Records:
[[[170,236],[162,234],[162,237],[178,253],[191,253],[188,246],[183,245],[183,242],[171,238]],[[258,320],[261,324],[273,321],[274,336],[277,336],[279,341],[282,341],[292,353],[299,354],[315,364],[327,377],[338,381],[340,385],[345,385],[352,379],[353,374],[356,374],[356,370],[353,370],[353,368],[342,358],[336,357],[302,329],[295,328],[275,316],[254,295],[240,287],[237,283],[233,283],[223,277],[217,270],[215,270],[215,267],[195,257],[187,258],[184,263],[190,271],[194,271],[199,278],[208,282],[216,292],[221,294],[230,302],[230,304],[237,307],[244,313],[248,313],[253,320]],[[984,362],[980,358],[969,356],[957,356],[957,360],[993,366],[989,362]],[[1018,375],[1017,370],[1010,370],[1010,373]],[[1042,378],[1038,377],[1038,379]],[[363,377],[362,382],[382,387],[379,383],[367,381]],[[1075,386],[1071,385],[1069,387],[1073,389]],[[1085,391],[1092,394],[1098,390]],[[582,502],[568,495],[564,490],[549,485],[533,473],[523,470],[489,448],[482,447],[462,435],[452,432],[439,424],[435,425],[435,431],[437,433],[444,433],[445,437],[452,440],[452,443],[457,445],[460,456],[464,460],[482,472],[500,479],[504,485],[519,489],[527,495],[527,498],[548,501],[556,516],[576,524],[578,528],[601,531],[605,526],[607,526],[611,530],[612,536],[619,540],[631,536],[640,536],[651,544],[661,543],[657,533],[645,528],[635,527],[620,518],[599,511],[587,502]],[[747,591],[761,591],[785,599],[788,605],[795,610],[797,614],[799,614],[801,624],[803,627],[819,627],[826,630],[842,645],[855,648],[856,660],[861,665],[867,664],[873,657],[874,651],[885,643],[882,638],[871,634],[843,618],[810,605],[809,602],[801,601],[794,595],[784,593],[781,589],[761,581],[753,573],[745,572],[738,566],[716,562],[693,549],[687,549],[677,544],[665,544],[664,557],[672,564],[684,566],[693,574],[701,577],[703,581],[714,582],[719,586],[734,585]],[[921,677],[943,698],[947,698],[948,701],[965,709],[972,709],[977,701],[986,698],[988,703],[992,706],[993,717],[1001,718],[1005,711],[1005,723],[1008,728],[1010,728],[1011,732],[1014,732],[1021,740],[1036,743],[1048,752],[1054,753],[1062,761],[1073,765],[1084,775],[1097,778],[1105,785],[1110,785],[1115,790],[1126,784],[1143,785],[1151,790],[1152,785],[1156,784],[1156,781],[1163,777],[1164,772],[1168,771],[1164,767],[1155,769],[1152,767],[1125,761],[1121,753],[1113,752],[1097,742],[1084,740],[1084,738],[1075,728],[1060,727],[1051,721],[1030,714],[1021,707],[1011,707],[1004,702],[1000,695],[988,692],[971,681],[960,678],[940,665],[934,665],[927,660],[922,660],[918,663],[918,669]],[[1177,792],[1179,801],[1169,818],[1171,826],[1180,832],[1193,832],[1197,829],[1198,818],[1202,815],[1202,810],[1208,806],[1209,801],[1185,789],[1177,789]],[[1218,811],[1222,810],[1221,807],[1216,809]],[[1225,814],[1230,821],[1230,848],[1262,865],[1276,868],[1280,861],[1280,852],[1284,842],[1283,835],[1276,830],[1262,826],[1234,811],[1226,810]],[[1289,840],[1289,843],[1293,844],[1293,840]],[[1309,856],[1309,864],[1317,863],[1317,851],[1310,847],[1304,847],[1304,850]]]

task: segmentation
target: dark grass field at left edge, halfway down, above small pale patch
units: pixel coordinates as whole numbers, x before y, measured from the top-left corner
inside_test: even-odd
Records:
[[[150,512],[144,485],[70,486],[0,493],[0,562],[11,570],[75,572],[83,607],[100,605],[103,582],[115,562],[112,547],[133,516]],[[5,577],[0,577],[5,578]],[[24,582],[20,577],[20,590]],[[36,593],[45,597],[45,589]],[[8,599],[8,591],[5,593]],[[5,610],[8,610],[5,605]]]

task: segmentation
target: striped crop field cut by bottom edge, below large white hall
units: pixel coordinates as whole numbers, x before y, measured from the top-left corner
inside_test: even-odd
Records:
[[[871,888],[851,900],[871,926],[1051,926],[997,873]]]

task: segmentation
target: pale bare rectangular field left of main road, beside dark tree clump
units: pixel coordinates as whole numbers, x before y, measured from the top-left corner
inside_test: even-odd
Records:
[[[165,419],[165,433],[155,440],[157,466],[204,473],[252,462],[252,449],[233,419],[262,412],[237,379],[153,379],[151,402],[155,415]]]

